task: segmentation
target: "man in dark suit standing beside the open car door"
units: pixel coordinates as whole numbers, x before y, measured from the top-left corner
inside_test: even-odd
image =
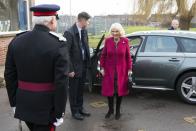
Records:
[[[86,70],[90,66],[88,33],[90,15],[86,12],[78,14],[77,22],[67,31],[64,37],[68,41],[70,55],[69,100],[73,118],[83,120],[90,116],[83,108],[83,87]]]

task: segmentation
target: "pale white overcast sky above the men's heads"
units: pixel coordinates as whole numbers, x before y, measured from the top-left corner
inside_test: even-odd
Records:
[[[92,16],[131,14],[135,10],[134,0],[35,0],[35,5],[51,3],[60,5],[60,14],[68,15],[77,15],[81,11],[86,11]]]

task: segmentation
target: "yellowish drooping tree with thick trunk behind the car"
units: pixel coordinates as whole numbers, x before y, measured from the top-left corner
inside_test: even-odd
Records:
[[[171,14],[174,6],[177,6],[177,11],[173,13],[180,19],[181,29],[188,29],[190,21],[196,14],[196,1],[192,3],[191,8],[188,8],[189,0],[138,0],[138,14],[142,14],[146,19],[152,14],[156,15]]]

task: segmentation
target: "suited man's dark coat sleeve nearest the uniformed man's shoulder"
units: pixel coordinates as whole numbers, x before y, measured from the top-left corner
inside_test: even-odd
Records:
[[[64,32],[64,35],[63,35],[66,39],[67,39],[67,44],[68,44],[68,52],[69,52],[69,55],[72,54],[72,49],[73,49],[73,37],[71,35],[70,32],[68,31],[65,31]],[[73,64],[72,64],[72,59],[70,59],[69,61],[69,72],[74,72],[74,67],[73,67]]]

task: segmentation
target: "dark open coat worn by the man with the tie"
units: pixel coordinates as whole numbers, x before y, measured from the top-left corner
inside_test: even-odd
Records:
[[[75,72],[75,77],[82,76],[83,59],[81,51],[80,36],[76,24],[64,32],[63,35],[68,42],[69,54],[70,54],[70,72]],[[86,65],[90,67],[90,53],[88,45],[88,33],[85,30],[85,49],[86,49]]]

